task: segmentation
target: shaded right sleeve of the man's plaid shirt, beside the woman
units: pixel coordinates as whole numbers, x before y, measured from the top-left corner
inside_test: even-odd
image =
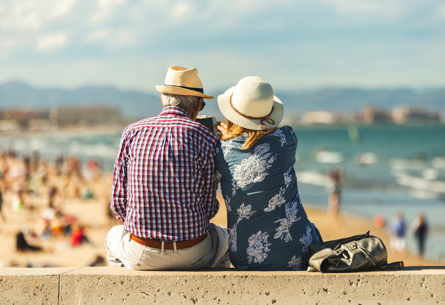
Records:
[[[220,203],[217,199],[217,185],[215,179],[215,147],[209,152],[207,166],[204,167],[204,177],[206,183],[204,184],[204,204],[206,207],[207,219],[210,220],[215,217],[220,209]]]

